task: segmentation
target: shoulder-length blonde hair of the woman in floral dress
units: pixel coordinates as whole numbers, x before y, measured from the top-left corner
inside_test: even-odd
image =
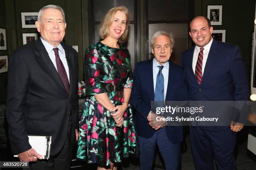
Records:
[[[118,43],[123,44],[126,42],[128,38],[128,28],[129,28],[129,11],[127,7],[120,6],[120,7],[113,7],[111,10],[106,13],[106,15],[103,17],[101,23],[100,23],[100,37],[104,40],[109,35],[109,27],[113,23],[114,15],[117,11],[121,11],[125,13],[126,16],[126,27],[125,31],[123,32],[123,35],[118,39]]]

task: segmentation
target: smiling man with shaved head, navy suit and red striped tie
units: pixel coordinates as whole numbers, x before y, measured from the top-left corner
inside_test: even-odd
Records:
[[[182,53],[189,100],[246,101],[249,81],[238,46],[212,39],[210,20],[203,16],[190,23],[189,35],[195,45]],[[216,113],[212,112],[212,115]],[[192,154],[197,170],[236,170],[236,133],[243,124],[191,126]]]

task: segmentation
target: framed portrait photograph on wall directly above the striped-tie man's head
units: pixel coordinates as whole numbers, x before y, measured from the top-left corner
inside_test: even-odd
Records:
[[[207,18],[211,25],[222,25],[222,5],[207,5]]]

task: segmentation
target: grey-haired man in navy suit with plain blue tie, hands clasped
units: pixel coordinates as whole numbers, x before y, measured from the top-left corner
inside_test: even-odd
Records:
[[[140,166],[141,170],[152,169],[157,144],[164,158],[165,169],[178,170],[182,127],[164,127],[165,122],[157,125],[152,123],[152,117],[156,117],[156,113],[151,111],[151,101],[187,100],[184,70],[169,61],[174,45],[172,35],[156,32],[150,44],[155,57],[136,65],[130,100],[136,110],[136,131],[141,150]]]

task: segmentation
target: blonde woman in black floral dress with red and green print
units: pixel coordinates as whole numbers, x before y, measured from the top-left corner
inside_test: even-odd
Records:
[[[123,157],[138,153],[132,109],[128,104],[133,75],[127,40],[126,7],[108,11],[100,25],[101,42],[85,52],[87,98],[79,126],[77,158],[98,163],[98,170],[116,169]]]

